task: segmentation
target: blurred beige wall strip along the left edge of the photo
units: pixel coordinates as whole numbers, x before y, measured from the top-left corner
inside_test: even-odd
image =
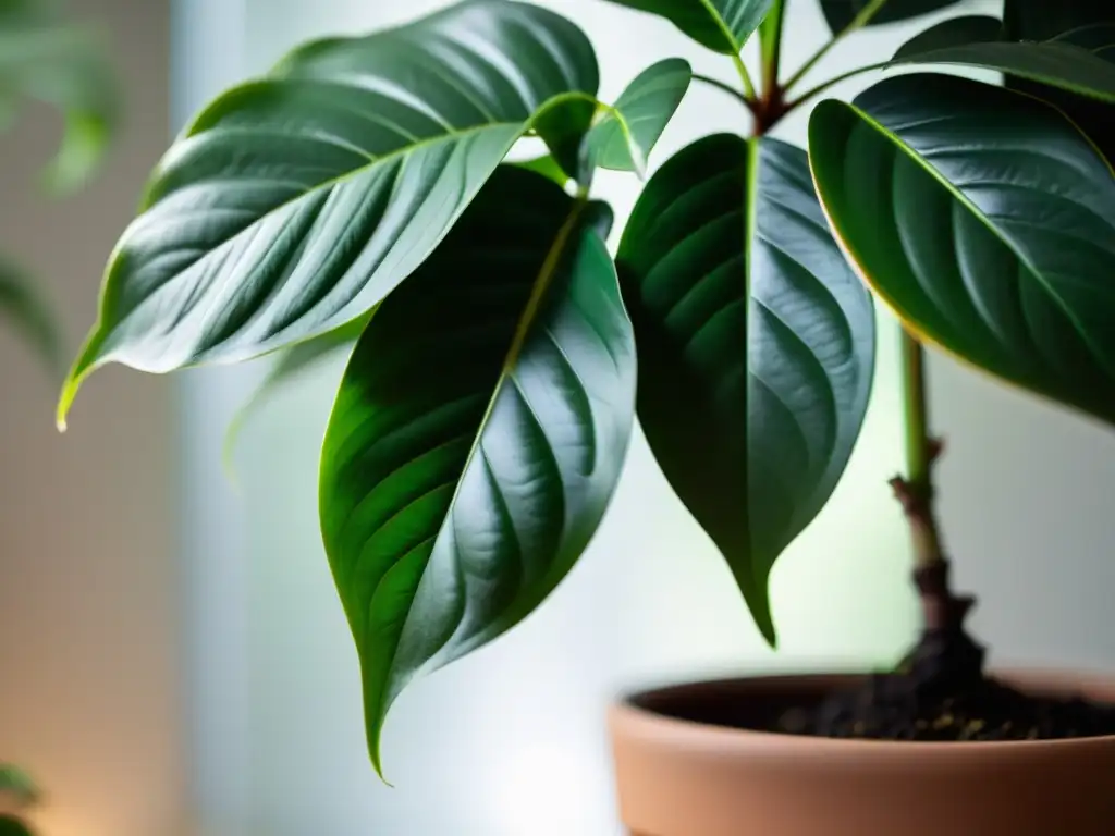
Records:
[[[0,137],[0,246],[35,268],[71,346],[168,133],[167,0],[70,0],[110,30],[127,127],[88,192],[33,194],[56,140],[35,113]],[[0,333],[0,759],[50,793],[45,836],[171,836],[184,780],[171,389],[108,369],[52,426],[55,387]]]

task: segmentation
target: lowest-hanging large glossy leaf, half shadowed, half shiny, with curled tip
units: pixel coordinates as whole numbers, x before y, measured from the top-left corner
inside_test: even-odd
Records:
[[[399,692],[530,614],[615,487],[634,344],[591,207],[501,167],[345,373],[321,526],[377,769]]]

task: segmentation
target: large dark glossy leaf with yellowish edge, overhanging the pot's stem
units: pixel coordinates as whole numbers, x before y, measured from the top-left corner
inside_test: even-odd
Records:
[[[833,229],[912,331],[1115,421],[1115,175],[1058,110],[909,75],[818,105],[809,152]]]

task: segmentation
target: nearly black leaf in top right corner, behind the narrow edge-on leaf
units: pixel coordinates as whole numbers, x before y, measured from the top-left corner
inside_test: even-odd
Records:
[[[1115,7],[1109,0],[1006,0],[1004,23],[1015,40],[1046,40],[1092,50],[1115,61]],[[1083,28],[1082,28],[1083,27]],[[1092,138],[1108,159],[1115,159],[1115,113],[1112,105],[1067,94],[1027,79],[1008,78],[1007,86],[1056,105]]]

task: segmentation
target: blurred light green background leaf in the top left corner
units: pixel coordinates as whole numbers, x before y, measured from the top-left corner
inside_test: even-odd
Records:
[[[0,2],[0,97],[9,108],[29,98],[61,110],[61,147],[46,173],[56,192],[86,182],[119,120],[116,79],[97,35],[38,0]]]

